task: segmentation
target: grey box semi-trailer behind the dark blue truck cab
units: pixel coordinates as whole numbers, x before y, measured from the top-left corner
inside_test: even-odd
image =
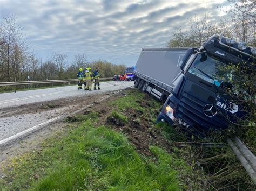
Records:
[[[181,76],[181,60],[188,48],[143,48],[134,74],[134,86],[166,100]]]

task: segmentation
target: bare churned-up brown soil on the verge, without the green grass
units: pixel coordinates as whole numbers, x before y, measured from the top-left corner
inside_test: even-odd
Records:
[[[160,130],[154,126],[154,123],[150,125],[150,119],[142,116],[141,109],[129,108],[122,112],[123,116],[127,117],[127,122],[124,123],[116,116],[112,116],[112,111],[116,110],[111,106],[110,102],[116,100],[118,97],[123,95],[117,95],[116,97],[110,98],[107,102],[102,102],[100,105],[94,105],[92,110],[98,111],[102,114],[99,118],[98,125],[109,125],[110,128],[117,131],[123,132],[127,135],[130,142],[136,147],[136,150],[144,155],[151,155],[149,146],[156,145],[165,148],[167,152],[172,151],[171,144],[167,142],[165,137],[161,134]],[[143,101],[137,100],[142,108],[152,107],[152,97],[145,95]],[[104,112],[102,112],[104,111]],[[158,114],[158,109],[155,111]]]

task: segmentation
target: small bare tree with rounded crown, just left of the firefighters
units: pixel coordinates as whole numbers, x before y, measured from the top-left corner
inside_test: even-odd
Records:
[[[64,70],[66,68],[66,54],[53,53],[51,61],[56,66],[59,79],[62,79]]]

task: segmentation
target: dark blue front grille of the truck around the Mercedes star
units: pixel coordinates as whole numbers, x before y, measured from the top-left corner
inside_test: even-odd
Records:
[[[227,119],[218,114],[214,117],[206,117],[203,108],[207,103],[198,100],[198,98],[183,92],[177,115],[187,124],[194,126],[199,131],[208,131],[209,129],[220,130],[225,128],[223,125]],[[205,128],[207,127],[207,128]]]

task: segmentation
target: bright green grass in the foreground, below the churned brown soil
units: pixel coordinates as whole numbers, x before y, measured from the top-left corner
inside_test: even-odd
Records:
[[[94,117],[92,117],[94,116]],[[46,140],[41,150],[13,159],[0,182],[3,190],[181,190],[179,169],[190,167],[157,146],[142,157],[126,136],[95,127],[97,115]]]

